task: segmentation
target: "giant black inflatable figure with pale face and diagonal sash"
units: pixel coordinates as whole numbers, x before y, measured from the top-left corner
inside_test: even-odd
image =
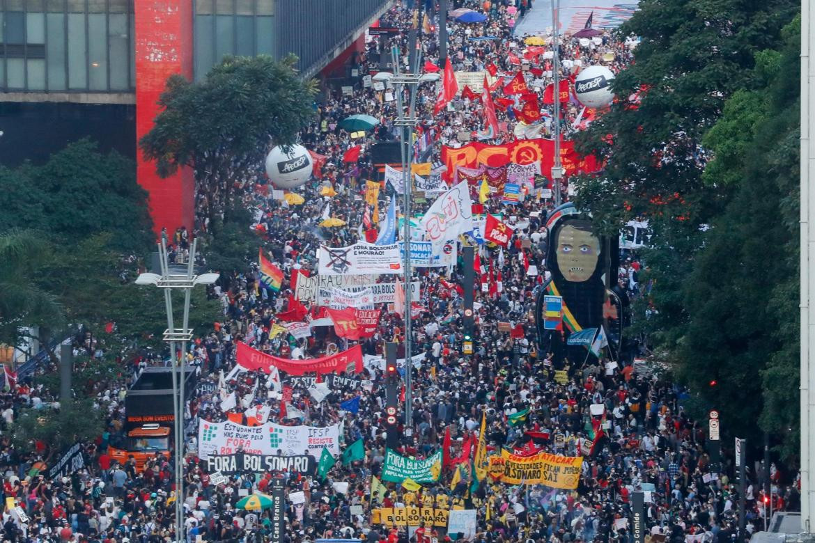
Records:
[[[591,216],[574,204],[556,208],[546,226],[546,267],[552,278],[538,295],[535,320],[541,352],[551,353],[554,369],[562,370],[566,364],[596,359],[606,344],[616,348],[622,331],[615,307],[619,296],[607,287],[617,285],[619,240],[597,237]]]

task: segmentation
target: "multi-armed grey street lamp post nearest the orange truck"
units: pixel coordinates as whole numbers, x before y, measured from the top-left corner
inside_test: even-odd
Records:
[[[210,285],[218,280],[218,274],[194,274],[196,260],[196,240],[192,240],[187,270],[184,274],[171,274],[170,262],[167,258],[167,245],[165,239],[158,243],[160,274],[140,274],[136,278],[137,285],[153,285],[164,291],[164,304],[167,312],[167,329],[163,339],[170,345],[170,374],[173,378],[173,417],[174,417],[174,471],[175,471],[175,538],[184,541],[183,519],[183,450],[184,450],[184,382],[186,381],[185,368],[187,366],[187,344],[192,341],[190,320],[190,296],[192,288],[196,285]],[[184,311],[181,328],[174,325],[173,290],[184,292]],[[176,344],[181,344],[181,360],[176,357]]]

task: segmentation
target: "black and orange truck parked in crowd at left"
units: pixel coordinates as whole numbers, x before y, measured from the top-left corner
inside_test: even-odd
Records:
[[[184,396],[196,392],[196,372],[186,370]],[[142,470],[156,453],[171,458],[174,443],[173,375],[170,368],[144,368],[125,397],[125,426],[121,435],[112,436],[108,454],[124,464],[131,456],[136,469]]]

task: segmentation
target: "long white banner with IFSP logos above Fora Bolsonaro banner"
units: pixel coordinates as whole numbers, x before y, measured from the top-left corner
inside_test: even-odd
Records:
[[[307,452],[317,458],[324,447],[329,453],[340,453],[339,424],[311,427],[266,423],[250,427],[231,421],[210,423],[203,419],[198,423],[198,458],[201,460],[211,454],[229,455],[239,450],[267,456],[295,456]]]

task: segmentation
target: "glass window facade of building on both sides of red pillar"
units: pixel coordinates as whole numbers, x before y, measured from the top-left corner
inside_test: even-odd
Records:
[[[138,1],[0,0],[0,90],[134,92]],[[192,2],[193,73],[200,79],[223,55],[293,53],[312,74],[390,0],[178,2]]]

